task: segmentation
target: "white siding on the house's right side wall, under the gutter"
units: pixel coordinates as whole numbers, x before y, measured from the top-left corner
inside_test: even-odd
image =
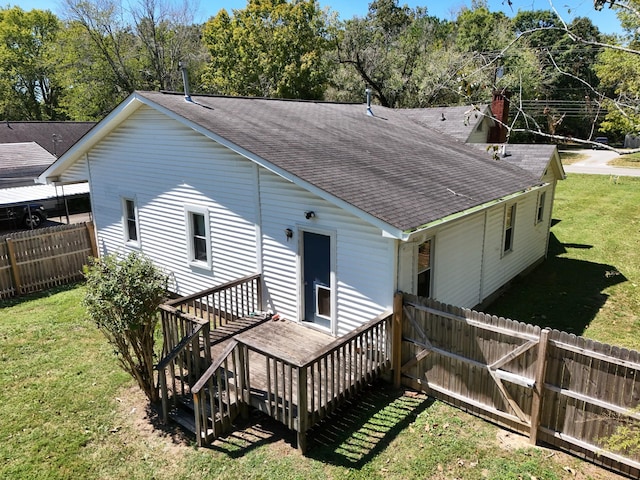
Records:
[[[551,191],[545,187],[542,191]],[[548,197],[547,197],[548,198]],[[544,258],[548,222],[535,223],[538,192],[517,199],[513,225],[513,252],[503,255],[505,204],[461,218],[402,243],[398,250],[398,288],[417,293],[418,245],[431,236],[435,242],[431,260],[431,296],[461,307],[474,307],[516,275]],[[551,216],[546,202],[545,219]],[[509,203],[508,205],[511,205]]]

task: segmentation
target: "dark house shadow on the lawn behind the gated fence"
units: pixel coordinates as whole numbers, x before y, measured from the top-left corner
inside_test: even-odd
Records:
[[[514,281],[484,311],[581,335],[606,303],[604,290],[627,281],[612,265],[560,256],[569,249],[590,248],[563,244],[552,233],[548,258],[529,275]]]

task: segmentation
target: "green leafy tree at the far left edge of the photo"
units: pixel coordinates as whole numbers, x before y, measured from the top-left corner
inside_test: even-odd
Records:
[[[0,9],[0,88],[4,117],[56,120],[60,86],[51,49],[60,30],[50,11]]]

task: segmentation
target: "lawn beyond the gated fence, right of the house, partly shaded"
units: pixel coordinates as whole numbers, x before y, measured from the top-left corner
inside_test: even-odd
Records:
[[[639,205],[640,178],[570,175],[548,259],[486,310],[640,350]]]

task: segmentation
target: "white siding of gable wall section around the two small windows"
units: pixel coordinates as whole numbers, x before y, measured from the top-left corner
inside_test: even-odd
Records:
[[[89,154],[101,253],[120,250],[118,192],[135,191],[142,248],[180,294],[256,273],[256,170],[251,162],[143,107]],[[206,206],[210,269],[188,264],[184,205]]]

